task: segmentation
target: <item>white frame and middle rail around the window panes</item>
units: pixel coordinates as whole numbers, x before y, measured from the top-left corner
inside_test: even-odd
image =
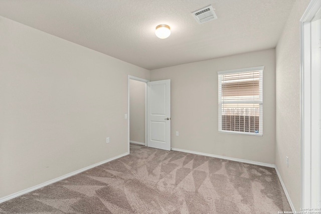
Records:
[[[244,131],[229,131],[222,130],[222,104],[223,103],[236,103],[235,101],[222,101],[222,75],[225,74],[233,74],[233,73],[245,73],[259,71],[259,88],[261,88],[261,92],[259,92],[259,101],[252,100],[248,102],[240,102],[247,104],[259,104],[259,132],[244,132]],[[243,68],[243,69],[235,69],[235,70],[227,70],[227,71],[219,71],[218,74],[218,131],[219,133],[230,133],[230,134],[242,134],[242,135],[253,135],[253,136],[263,136],[263,71],[264,66],[251,67],[251,68]]]

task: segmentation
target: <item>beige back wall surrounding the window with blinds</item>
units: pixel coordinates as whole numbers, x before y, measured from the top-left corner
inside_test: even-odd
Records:
[[[219,133],[217,72],[256,66],[265,66],[263,137]],[[172,147],[274,164],[275,49],[151,71],[162,79],[171,79]]]

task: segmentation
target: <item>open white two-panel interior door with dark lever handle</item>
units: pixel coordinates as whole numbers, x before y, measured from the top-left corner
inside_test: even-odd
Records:
[[[147,146],[171,150],[171,80],[147,83]]]

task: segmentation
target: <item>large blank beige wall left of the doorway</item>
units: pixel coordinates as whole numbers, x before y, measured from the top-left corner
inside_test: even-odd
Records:
[[[3,17],[0,29],[0,198],[127,152],[127,75],[148,70]]]

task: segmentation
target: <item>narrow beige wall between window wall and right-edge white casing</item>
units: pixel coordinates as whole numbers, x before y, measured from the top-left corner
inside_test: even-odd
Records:
[[[299,20],[308,3],[307,0],[294,3],[276,47],[275,164],[296,210],[300,208],[301,194]]]

